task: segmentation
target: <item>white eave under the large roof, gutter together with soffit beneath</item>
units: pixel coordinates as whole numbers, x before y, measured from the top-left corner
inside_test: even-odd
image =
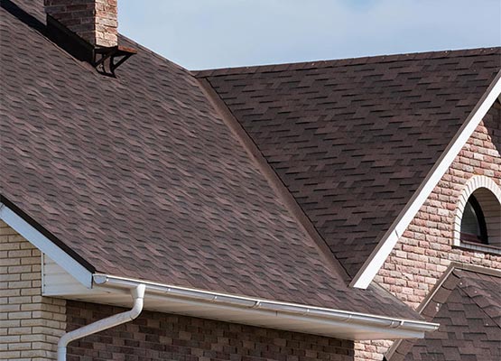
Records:
[[[181,313],[207,319],[219,319],[259,327],[308,332],[343,339],[423,338],[424,332],[438,324],[413,319],[333,310],[310,305],[270,301],[209,292],[156,282],[93,275],[95,289],[123,292],[145,284],[146,309]]]

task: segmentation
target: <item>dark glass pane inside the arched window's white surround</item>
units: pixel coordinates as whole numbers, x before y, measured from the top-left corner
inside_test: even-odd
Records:
[[[468,199],[461,219],[461,241],[487,244],[487,227],[482,208],[474,196]]]

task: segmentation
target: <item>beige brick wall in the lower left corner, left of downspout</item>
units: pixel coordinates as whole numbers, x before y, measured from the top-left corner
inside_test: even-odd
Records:
[[[41,253],[0,220],[0,359],[56,359],[66,301],[42,297]]]

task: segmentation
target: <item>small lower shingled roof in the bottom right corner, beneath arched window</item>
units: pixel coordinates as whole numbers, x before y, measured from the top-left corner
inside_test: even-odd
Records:
[[[456,269],[422,314],[441,324],[425,338],[403,341],[390,361],[494,360],[501,356],[500,276]]]

